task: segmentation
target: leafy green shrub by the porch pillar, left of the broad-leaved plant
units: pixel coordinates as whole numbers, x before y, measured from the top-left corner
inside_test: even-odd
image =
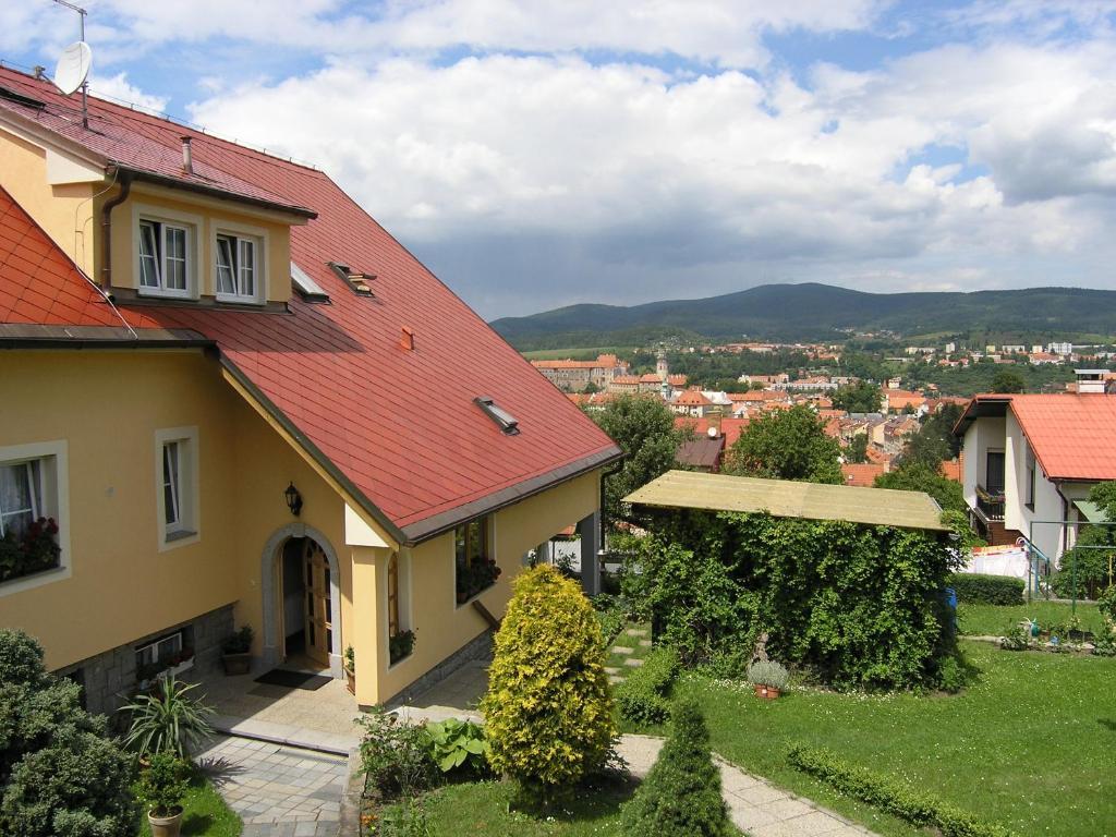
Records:
[[[357,723],[364,729],[360,770],[372,790],[392,799],[414,796],[433,783],[435,767],[422,727],[402,723],[383,706],[373,706]]]

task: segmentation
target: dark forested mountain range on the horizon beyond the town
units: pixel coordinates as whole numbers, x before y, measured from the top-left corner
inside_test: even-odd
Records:
[[[517,348],[623,344],[625,335],[826,339],[848,331],[901,335],[1112,335],[1116,291],[1026,288],[971,292],[868,294],[808,282],[761,285],[704,299],[636,306],[571,305],[492,323]]]

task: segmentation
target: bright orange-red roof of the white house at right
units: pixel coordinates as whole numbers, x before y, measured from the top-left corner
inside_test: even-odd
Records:
[[[953,429],[1008,410],[1050,480],[1116,480],[1116,396],[1101,393],[978,395]]]

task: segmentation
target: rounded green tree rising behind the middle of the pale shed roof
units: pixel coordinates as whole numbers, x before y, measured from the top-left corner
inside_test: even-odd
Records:
[[[807,406],[752,420],[729,451],[725,473],[841,484],[840,445]]]

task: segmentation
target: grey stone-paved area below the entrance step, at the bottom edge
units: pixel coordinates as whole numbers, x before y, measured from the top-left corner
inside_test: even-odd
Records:
[[[345,757],[218,735],[196,761],[244,820],[241,837],[336,837]]]

